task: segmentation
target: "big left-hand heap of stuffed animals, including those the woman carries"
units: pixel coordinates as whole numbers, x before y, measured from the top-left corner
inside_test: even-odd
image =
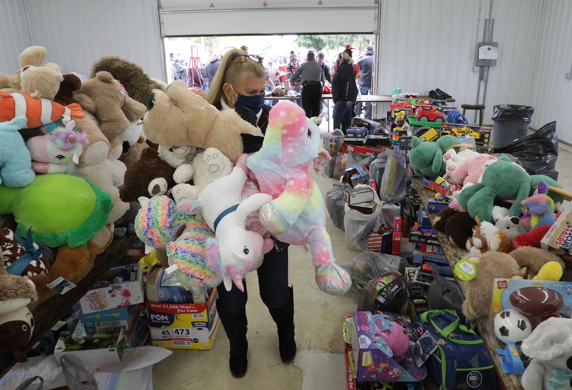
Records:
[[[309,176],[327,152],[303,110],[277,105],[263,143],[259,128],[182,81],[167,90],[117,57],[89,79],[62,75],[46,57],[28,47],[19,70],[0,73],[0,351],[25,361],[30,310],[57,295],[45,286],[77,284],[126,232],[147,253],[164,248],[188,289],[242,288],[272,234],[309,243],[319,288],[347,292]]]

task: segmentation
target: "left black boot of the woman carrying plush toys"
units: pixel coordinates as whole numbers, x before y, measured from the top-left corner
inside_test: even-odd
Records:
[[[228,359],[229,368],[232,376],[241,378],[247,373],[248,369],[247,312],[244,311],[233,315],[219,312],[219,317],[231,344],[231,357]]]

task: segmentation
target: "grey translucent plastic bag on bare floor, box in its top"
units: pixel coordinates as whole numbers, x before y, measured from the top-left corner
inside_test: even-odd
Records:
[[[359,188],[364,185],[356,185]],[[349,205],[344,205],[344,230],[345,230],[345,247],[355,250],[366,250],[368,238],[370,233],[374,230],[376,218],[378,213],[381,212],[379,207],[378,194],[374,192],[374,201],[378,204],[378,208],[373,214],[362,214],[358,210],[349,208]]]

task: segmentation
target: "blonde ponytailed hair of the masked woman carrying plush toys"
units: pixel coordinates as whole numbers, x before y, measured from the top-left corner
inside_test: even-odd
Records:
[[[210,83],[206,101],[218,109],[221,108],[220,99],[225,97],[223,90],[225,83],[237,87],[241,81],[244,81],[247,75],[253,75],[257,78],[268,78],[260,63],[250,58],[247,58],[245,62],[238,62],[233,58],[236,54],[247,55],[244,50],[232,47],[221,59],[219,69],[217,69],[215,77],[213,77],[213,81]]]

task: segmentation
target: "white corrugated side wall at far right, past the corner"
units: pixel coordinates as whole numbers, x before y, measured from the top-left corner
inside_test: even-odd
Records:
[[[542,24],[530,105],[534,106],[531,126],[540,128],[557,121],[558,138],[572,142],[572,3],[568,0],[544,0]]]

